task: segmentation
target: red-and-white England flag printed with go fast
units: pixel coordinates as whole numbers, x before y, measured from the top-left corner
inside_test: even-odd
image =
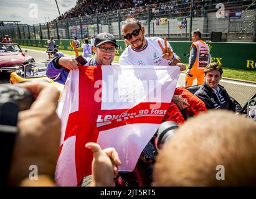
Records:
[[[92,174],[87,142],[114,147],[133,171],[163,121],[179,78],[176,66],[92,66],[69,73],[57,113],[62,121],[55,172],[59,186],[77,186]]]

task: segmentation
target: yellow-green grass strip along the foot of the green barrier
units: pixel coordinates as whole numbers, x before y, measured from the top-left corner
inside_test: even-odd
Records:
[[[45,51],[45,48],[31,47],[31,46],[25,46],[25,45],[21,45],[21,48]],[[70,51],[70,50],[60,50],[60,51],[63,52],[64,54],[75,55],[75,52]],[[80,54],[82,54],[82,52],[80,52]],[[119,62],[119,56],[118,55],[115,55],[114,62]],[[186,64],[186,68],[187,67],[188,67],[188,64]],[[247,71],[247,70],[237,70],[237,69],[223,68],[222,77],[256,82],[256,72],[254,70]]]

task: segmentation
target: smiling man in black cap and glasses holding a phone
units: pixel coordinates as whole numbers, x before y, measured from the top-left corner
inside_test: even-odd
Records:
[[[116,40],[115,37],[107,32],[97,35],[95,38],[95,57],[85,58],[86,65],[111,65],[115,57]],[[46,75],[54,81],[65,84],[69,70],[78,68],[75,58],[56,57],[47,65]]]

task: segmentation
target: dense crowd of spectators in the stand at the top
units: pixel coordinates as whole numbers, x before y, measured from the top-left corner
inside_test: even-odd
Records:
[[[194,16],[206,14],[207,10],[216,9],[218,3],[234,3],[241,2],[239,0],[220,1],[220,0],[197,0],[194,1]],[[56,20],[70,19],[74,17],[88,17],[92,14],[99,14],[104,12],[114,12],[116,10],[123,10],[129,15],[140,14],[146,12],[145,6],[152,6],[153,16],[155,14],[171,14],[174,17],[184,16],[190,12],[190,0],[166,1],[166,0],[133,0],[133,1],[113,1],[113,0],[80,0],[77,1],[75,7],[62,14]]]

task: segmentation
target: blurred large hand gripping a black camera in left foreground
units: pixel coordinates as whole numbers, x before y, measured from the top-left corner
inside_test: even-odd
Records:
[[[29,90],[32,93],[30,96],[36,97],[36,101],[30,108],[28,106],[29,109],[19,112],[19,133],[12,153],[8,184],[27,185],[29,182],[42,185],[41,179],[45,180],[46,177],[48,180],[44,185],[52,185],[60,140],[60,119],[55,112],[59,91],[49,83],[24,83],[20,86],[15,85],[14,89],[7,90],[4,95],[18,90],[19,95],[11,95],[14,100],[18,97],[26,99],[24,93]],[[33,182],[27,180],[31,165],[36,165],[38,169],[38,180]]]

